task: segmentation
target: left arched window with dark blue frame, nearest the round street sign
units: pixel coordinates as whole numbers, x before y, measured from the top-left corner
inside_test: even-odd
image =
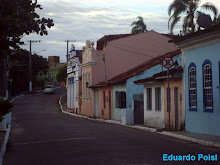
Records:
[[[189,111],[197,111],[197,86],[196,86],[196,65],[191,63],[188,67],[189,78]]]

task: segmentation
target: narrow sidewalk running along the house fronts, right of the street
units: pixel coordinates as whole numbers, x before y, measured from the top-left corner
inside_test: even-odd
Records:
[[[65,95],[63,95],[63,96],[65,96]],[[206,146],[220,148],[220,137],[218,137],[218,136],[191,133],[191,132],[186,132],[186,131],[161,131],[157,128],[150,128],[150,127],[147,127],[147,126],[144,126],[144,125],[123,125],[120,121],[104,120],[104,119],[99,119],[99,118],[94,119],[94,118],[90,118],[90,117],[87,117],[87,116],[71,113],[71,112],[67,111],[66,97],[64,97],[64,99],[62,99],[63,96],[61,96],[60,99],[59,99],[59,105],[60,105],[61,111],[65,114],[68,114],[68,115],[71,115],[71,116],[81,117],[81,118],[85,118],[85,119],[93,120],[93,121],[106,122],[106,123],[111,123],[111,124],[118,124],[118,125],[122,125],[122,126],[125,126],[125,127],[140,129],[140,130],[144,130],[144,131],[150,131],[150,132],[158,133],[158,134],[161,134],[161,135],[171,136],[171,137],[174,137],[174,138],[187,140],[187,141],[191,141],[191,142],[206,145]]]

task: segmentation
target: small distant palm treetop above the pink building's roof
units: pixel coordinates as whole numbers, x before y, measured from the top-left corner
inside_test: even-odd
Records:
[[[144,19],[141,16],[137,17],[138,21],[132,22],[131,34],[143,33],[147,31],[147,26],[144,23]]]

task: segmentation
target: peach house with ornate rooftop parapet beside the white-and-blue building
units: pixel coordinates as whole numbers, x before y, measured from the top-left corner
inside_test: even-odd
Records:
[[[95,50],[94,43],[86,41],[82,52],[82,94],[80,97],[80,114],[100,117],[99,89],[89,88],[92,84],[102,81],[104,77],[103,51]],[[97,105],[97,106],[96,106]]]

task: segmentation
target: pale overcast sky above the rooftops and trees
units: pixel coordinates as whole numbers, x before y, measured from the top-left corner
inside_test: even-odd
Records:
[[[131,32],[130,24],[142,16],[148,30],[168,33],[167,9],[173,0],[38,0],[43,10],[37,11],[41,17],[52,18],[55,26],[48,29],[48,35],[31,34],[23,41],[29,49],[28,40],[41,40],[32,44],[32,52],[44,57],[60,56],[66,62],[66,40],[73,42],[81,50],[86,40],[96,42],[104,35]],[[220,0],[202,0],[201,4],[212,2],[218,7]],[[181,23],[175,27],[179,32]],[[69,44],[69,47],[71,44]],[[45,50],[45,51],[43,51]]]

